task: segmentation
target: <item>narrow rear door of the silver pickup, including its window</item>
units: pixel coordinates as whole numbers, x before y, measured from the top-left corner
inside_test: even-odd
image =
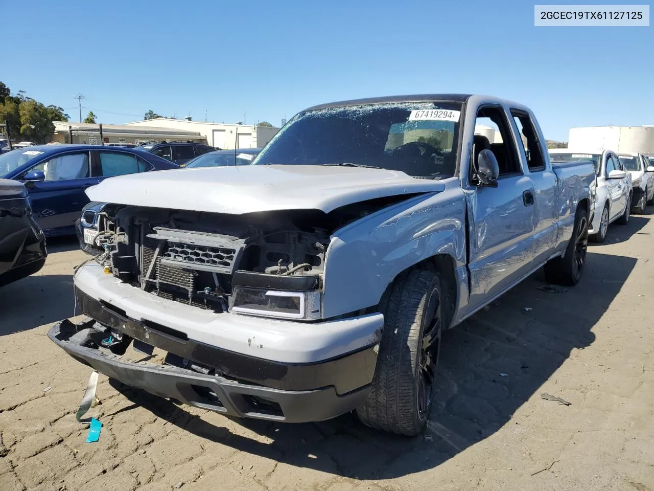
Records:
[[[557,209],[557,175],[545,160],[542,136],[532,117],[525,111],[511,109],[515,123],[518,153],[523,169],[534,186],[534,264],[549,259],[557,244],[559,210]]]

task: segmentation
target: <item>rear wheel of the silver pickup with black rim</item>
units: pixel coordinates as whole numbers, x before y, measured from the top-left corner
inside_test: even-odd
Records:
[[[581,280],[588,248],[588,212],[577,208],[572,238],[562,257],[551,259],[543,268],[545,280],[555,285],[574,286]]]

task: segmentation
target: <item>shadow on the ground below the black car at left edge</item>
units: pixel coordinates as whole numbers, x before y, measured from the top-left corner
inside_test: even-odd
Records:
[[[70,317],[75,308],[73,276],[33,275],[0,288],[0,336]]]

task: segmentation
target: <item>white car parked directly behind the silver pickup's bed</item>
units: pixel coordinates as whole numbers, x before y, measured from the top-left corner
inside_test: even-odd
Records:
[[[595,166],[595,185],[591,225],[588,234],[594,242],[604,242],[609,224],[613,221],[626,225],[632,200],[631,175],[625,170],[615,152],[571,152],[569,149],[549,149],[552,162],[591,160]]]

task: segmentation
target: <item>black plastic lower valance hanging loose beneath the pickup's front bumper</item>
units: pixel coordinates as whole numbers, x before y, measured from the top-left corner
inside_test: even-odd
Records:
[[[368,387],[337,395],[333,386],[289,391],[245,384],[224,376],[201,374],[171,365],[137,364],[97,348],[92,321],[55,324],[48,337],[78,361],[109,378],[154,395],[237,417],[284,422],[322,421],[349,412],[363,403]]]

